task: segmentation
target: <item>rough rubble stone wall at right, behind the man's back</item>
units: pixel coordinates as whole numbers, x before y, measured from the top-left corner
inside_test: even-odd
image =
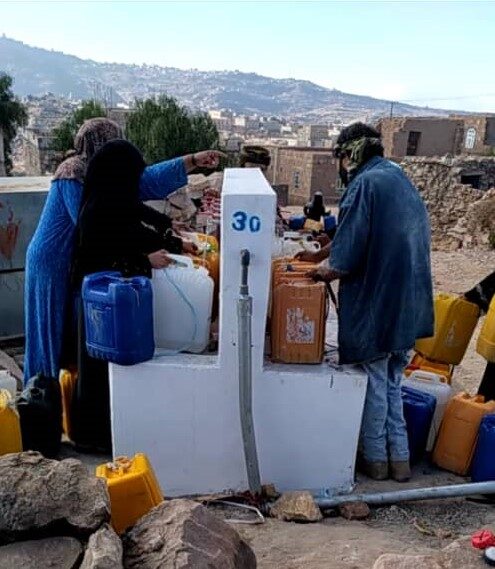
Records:
[[[435,249],[491,248],[495,238],[494,158],[404,158],[401,166],[429,211]],[[475,176],[479,189],[462,184]]]

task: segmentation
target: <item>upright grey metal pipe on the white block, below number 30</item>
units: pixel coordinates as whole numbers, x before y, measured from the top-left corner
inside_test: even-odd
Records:
[[[256,437],[253,422],[253,373],[251,346],[251,317],[253,299],[249,296],[248,269],[250,262],[249,251],[241,251],[241,286],[237,300],[239,354],[239,410],[241,414],[242,441],[249,489],[255,494],[261,492],[261,478],[256,450]]]

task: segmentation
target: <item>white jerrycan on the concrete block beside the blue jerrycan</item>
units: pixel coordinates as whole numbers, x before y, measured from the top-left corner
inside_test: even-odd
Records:
[[[153,270],[155,346],[199,354],[208,346],[214,282],[189,257],[169,255],[176,265]]]

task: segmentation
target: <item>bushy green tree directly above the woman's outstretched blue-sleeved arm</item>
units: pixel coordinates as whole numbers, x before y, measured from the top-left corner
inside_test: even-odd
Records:
[[[207,114],[191,113],[164,95],[136,101],[126,136],[151,164],[219,146],[217,128]]]

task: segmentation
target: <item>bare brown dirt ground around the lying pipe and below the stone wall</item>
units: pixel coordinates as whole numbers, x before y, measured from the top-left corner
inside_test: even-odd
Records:
[[[494,268],[495,252],[433,253],[437,291],[462,293]],[[476,354],[473,341],[455,371],[454,388],[475,392],[483,369],[484,360]],[[408,484],[378,483],[358,477],[357,491],[463,481],[425,463],[415,469]],[[429,553],[481,527],[495,528],[495,506],[461,499],[373,509],[365,522],[349,522],[339,517],[310,525],[267,520],[264,525],[238,526],[238,529],[253,547],[259,569],[370,569],[382,553]]]

